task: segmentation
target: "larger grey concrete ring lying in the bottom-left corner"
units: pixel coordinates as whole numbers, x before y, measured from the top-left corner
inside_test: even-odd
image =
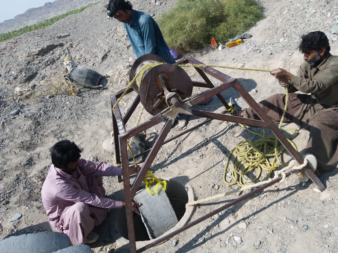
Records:
[[[0,241],[0,252],[51,253],[72,246],[67,234],[40,232],[11,236]]]

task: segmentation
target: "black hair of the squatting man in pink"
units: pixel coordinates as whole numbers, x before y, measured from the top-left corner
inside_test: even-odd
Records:
[[[76,162],[81,157],[81,152],[82,149],[69,140],[56,142],[50,148],[52,163],[56,168],[67,168],[69,163]]]

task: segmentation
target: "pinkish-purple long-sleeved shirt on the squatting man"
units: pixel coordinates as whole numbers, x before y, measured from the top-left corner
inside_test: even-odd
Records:
[[[85,202],[103,208],[121,208],[122,201],[98,197],[90,193],[85,176],[122,175],[122,169],[105,163],[79,159],[80,165],[73,174],[68,174],[52,165],[41,190],[42,203],[51,225],[61,230],[60,216],[77,202]]]

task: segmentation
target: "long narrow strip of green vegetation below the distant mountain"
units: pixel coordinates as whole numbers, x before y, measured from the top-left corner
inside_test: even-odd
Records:
[[[22,27],[22,28],[20,28],[18,30],[13,30],[13,31],[9,31],[9,32],[0,33],[0,42],[4,41],[4,40],[7,40],[7,39],[11,39],[11,38],[17,37],[17,36],[20,36],[20,35],[22,35],[24,33],[27,33],[27,32],[31,32],[31,31],[35,31],[35,30],[46,28],[47,26],[51,26],[56,21],[62,20],[64,18],[66,18],[67,16],[70,16],[70,15],[82,12],[84,9],[87,9],[88,7],[90,7],[90,6],[94,5],[94,4],[97,4],[97,3],[88,4],[88,5],[83,6],[81,8],[67,11],[66,13],[61,14],[59,16],[56,16],[54,18],[46,19],[45,21],[41,21],[41,22],[39,22],[37,24],[24,26],[24,27]]]

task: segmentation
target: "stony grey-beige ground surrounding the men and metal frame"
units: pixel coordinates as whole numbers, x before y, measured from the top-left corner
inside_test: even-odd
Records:
[[[338,35],[334,33],[338,26],[336,1],[258,3],[263,7],[265,18],[249,30],[253,37],[233,48],[212,50],[206,47],[180,55],[180,59],[192,55],[206,64],[259,69],[283,67],[296,74],[303,61],[297,50],[299,37],[316,30],[327,34],[331,53],[338,54]],[[0,43],[0,238],[52,230],[40,191],[51,164],[49,148],[55,142],[73,140],[83,147],[83,158],[115,163],[114,155],[102,148],[112,131],[110,96],[128,84],[128,71],[135,55],[122,24],[106,19],[104,4],[100,2],[46,29]],[[156,19],[174,6],[175,1],[139,0],[132,4]],[[219,42],[225,45],[226,40]],[[63,65],[67,56],[80,66],[106,75],[102,80],[104,89],[75,87],[78,95],[71,95],[62,79],[67,74]],[[267,72],[219,70],[237,78],[257,102],[284,92]],[[187,73],[193,80],[199,80],[192,69],[187,69]],[[55,90],[58,94],[53,95]],[[199,90],[194,89],[194,93]],[[246,107],[234,90],[226,90],[222,95],[226,101],[235,96],[238,103]],[[131,93],[120,102],[122,112],[127,111],[134,97]],[[216,98],[198,107],[223,110]],[[134,126],[139,109],[126,125],[127,129]],[[144,112],[141,122],[150,117]],[[188,127],[201,120],[190,117]],[[149,129],[147,141],[150,142],[161,128],[159,124]],[[170,135],[177,132],[178,128],[174,127]],[[214,120],[164,145],[152,171],[157,177],[189,184],[196,199],[226,192],[229,188],[222,181],[224,161],[229,150],[243,138],[252,138],[252,135],[237,124]],[[294,140],[300,152],[307,138],[308,133],[301,130]],[[287,154],[286,159],[290,161]],[[320,177],[327,187],[321,193],[311,182],[300,184],[296,175],[292,175],[146,252],[338,252],[335,243],[338,240],[337,172],[335,168]],[[123,199],[123,185],[117,178],[105,178],[104,186],[110,197]],[[238,195],[200,204],[191,220]],[[21,215],[13,218],[16,214]],[[109,215],[107,229],[98,230],[100,240],[91,245],[95,252],[109,249],[128,252],[128,245],[114,226],[115,215],[116,212]]]

